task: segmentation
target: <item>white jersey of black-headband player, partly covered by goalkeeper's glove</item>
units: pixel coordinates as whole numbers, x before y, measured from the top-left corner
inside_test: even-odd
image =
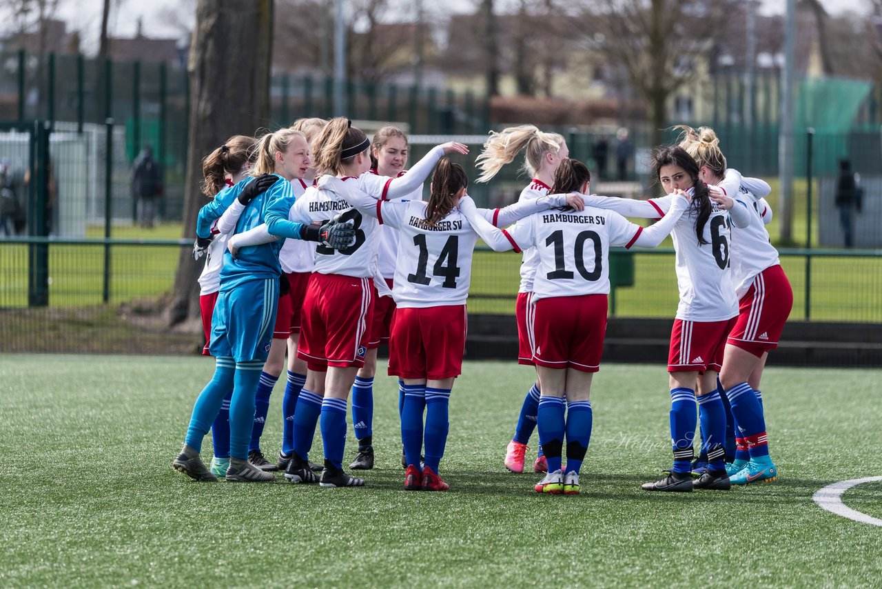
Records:
[[[370,174],[362,174],[360,177],[342,178],[345,182],[354,182],[363,192],[362,178]],[[369,185],[370,183],[365,183]],[[374,194],[369,192],[369,194]],[[340,251],[326,245],[316,247],[315,267],[313,272],[319,274],[340,274],[356,278],[368,278],[377,274],[377,219],[371,216],[363,216],[358,210],[349,205],[348,201],[337,194],[325,190],[319,190],[315,186],[306,189],[299,199],[295,200],[291,207],[288,218],[298,223],[312,223],[313,221],[326,221],[334,215],[339,215],[351,209],[355,220],[355,243]]]

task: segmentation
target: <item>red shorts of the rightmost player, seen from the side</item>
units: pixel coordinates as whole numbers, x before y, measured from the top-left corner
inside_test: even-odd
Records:
[[[728,344],[757,357],[778,347],[784,323],[793,308],[793,289],[780,264],[753,277],[738,303],[738,318]]]

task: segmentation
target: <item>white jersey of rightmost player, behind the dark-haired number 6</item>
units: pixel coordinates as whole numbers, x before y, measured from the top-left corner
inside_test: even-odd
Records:
[[[736,297],[740,300],[751,288],[753,278],[766,268],[781,264],[778,250],[769,241],[763,213],[766,205],[742,185],[733,197],[736,207],[746,207],[751,216],[747,227],[732,229],[732,283]]]

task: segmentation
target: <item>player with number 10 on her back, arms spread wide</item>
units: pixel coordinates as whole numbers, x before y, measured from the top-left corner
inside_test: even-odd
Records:
[[[551,192],[587,193],[589,181],[585,164],[564,160],[557,168]],[[537,493],[579,493],[579,469],[594,420],[591,381],[600,369],[606,332],[609,246],[659,245],[688,204],[688,195],[676,191],[667,215],[647,230],[614,211],[587,207],[581,213],[537,213],[499,231],[476,218],[471,208],[463,207],[475,230],[494,250],[534,247],[538,254],[530,317],[533,359],[542,382],[539,440],[548,473],[535,485]],[[564,437],[566,467],[562,468]]]

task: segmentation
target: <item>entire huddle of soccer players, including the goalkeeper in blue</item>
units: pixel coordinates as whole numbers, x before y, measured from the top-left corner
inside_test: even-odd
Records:
[[[348,397],[358,441],[349,469],[370,470],[377,348],[388,344],[404,488],[447,490],[439,465],[482,239],[497,252],[523,253],[518,361],[537,376],[505,467],[524,471],[538,427],[534,471],[544,476],[535,491],[578,494],[606,329],[609,247],[655,247],[671,235],[680,292],[668,366],[674,463],[643,488],[774,480],[759,380],[792,291],[765,228],[770,187],[727,169],[712,130],[682,129],[679,145],[654,152],[654,175],[668,195],[651,200],[591,194],[587,167],[568,157],[557,133],[533,125],[491,132],[477,181],[521,150],[532,177],[518,202],[498,209],[477,208],[466,171],[444,157],[467,154],[459,143],[434,147],[405,173],[407,137],[391,126],[371,141],[346,118],[301,119],[259,141],[230,138],[203,162],[213,200],[199,212],[194,245],[197,260],[206,256],[203,353],[215,358],[215,371],[173,467],[194,480],[274,480],[283,470],[294,483],[364,485],[343,470]],[[286,366],[281,449],[270,462],[260,438]],[[321,465],[310,462],[316,427]],[[214,457],[206,467],[199,453],[209,430]]]

